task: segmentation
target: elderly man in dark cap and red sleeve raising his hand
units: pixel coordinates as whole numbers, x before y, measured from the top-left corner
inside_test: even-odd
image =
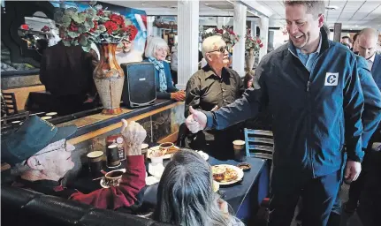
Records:
[[[61,182],[74,167],[72,151],[75,149],[66,138],[76,132],[77,127],[56,127],[36,116],[29,117],[16,132],[2,139],[2,162],[11,164],[11,174],[17,176],[13,186],[77,200],[98,208],[129,208],[138,204],[140,200],[137,196],[146,185],[141,143],[147,133],[140,124],[122,121],[121,133],[126,142],[127,158],[126,173],[119,186],[88,194],[65,188]]]

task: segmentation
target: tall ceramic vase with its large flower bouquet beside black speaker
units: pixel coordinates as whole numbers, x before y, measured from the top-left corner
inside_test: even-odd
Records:
[[[115,56],[117,45],[123,39],[133,41],[138,30],[125,16],[89,5],[85,11],[68,8],[56,13],[60,35],[66,46],[80,45],[85,51],[95,43],[100,49],[100,61],[93,78],[103,103],[103,114],[119,114],[120,98],[125,82],[124,72]]]

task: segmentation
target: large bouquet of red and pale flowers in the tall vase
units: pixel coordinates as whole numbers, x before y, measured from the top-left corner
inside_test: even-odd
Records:
[[[118,43],[133,41],[138,30],[131,20],[117,12],[107,11],[102,5],[90,5],[85,11],[68,8],[55,15],[65,46],[81,45],[88,51],[91,43]]]

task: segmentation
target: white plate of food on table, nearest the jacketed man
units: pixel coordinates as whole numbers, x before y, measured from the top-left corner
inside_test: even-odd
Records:
[[[232,185],[243,178],[243,170],[233,165],[216,165],[211,167],[213,179],[219,185]]]

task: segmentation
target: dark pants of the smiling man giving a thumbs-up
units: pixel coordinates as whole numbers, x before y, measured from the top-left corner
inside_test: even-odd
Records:
[[[284,169],[282,172],[274,168],[269,226],[289,226],[299,197],[303,205],[302,224],[325,226],[339,191],[341,175],[341,170],[338,170],[311,179],[295,174],[286,176]]]

